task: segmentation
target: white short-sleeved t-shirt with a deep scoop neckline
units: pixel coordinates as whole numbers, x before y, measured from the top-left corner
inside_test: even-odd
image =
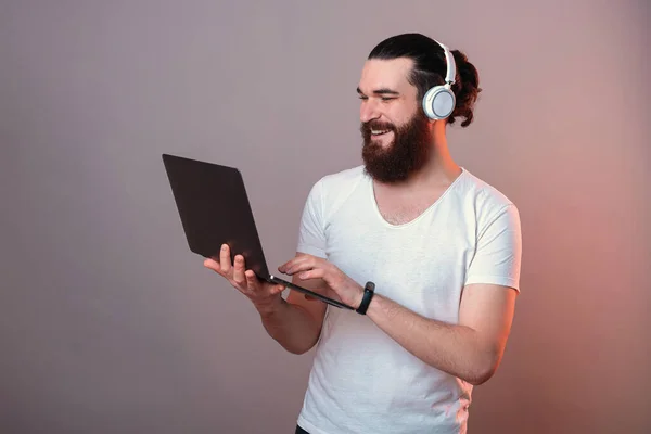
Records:
[[[381,216],[363,166],[320,179],[297,251],[328,258],[375,293],[458,322],[461,290],[520,291],[516,207],[468,170],[405,225]],[[472,385],[412,356],[367,316],[328,306],[298,424],[310,434],[464,433]]]

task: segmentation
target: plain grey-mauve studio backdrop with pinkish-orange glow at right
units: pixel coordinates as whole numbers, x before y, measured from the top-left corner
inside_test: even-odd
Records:
[[[361,162],[366,55],[421,31],[480,69],[451,152],[523,224],[513,332],[470,432],[650,432],[649,16],[646,0],[2,0],[0,431],[293,432],[314,353],[282,350],[189,253],[159,155],[239,166],[273,268],[311,184]]]

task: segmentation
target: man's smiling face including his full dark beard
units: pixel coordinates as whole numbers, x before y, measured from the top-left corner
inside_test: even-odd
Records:
[[[407,80],[411,65],[409,59],[370,60],[361,73],[362,158],[367,173],[382,182],[407,179],[430,157],[430,122]]]

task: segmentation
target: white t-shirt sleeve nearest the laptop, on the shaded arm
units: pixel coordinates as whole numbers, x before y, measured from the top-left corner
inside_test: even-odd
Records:
[[[296,251],[322,258],[327,257],[322,181],[311,188],[305,202]]]

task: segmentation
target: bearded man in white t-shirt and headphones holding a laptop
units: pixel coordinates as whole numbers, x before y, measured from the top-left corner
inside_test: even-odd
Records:
[[[464,433],[472,387],[500,363],[520,291],[520,219],[448,152],[446,126],[472,122],[481,89],[465,55],[447,55],[418,34],[372,50],[357,89],[365,164],[312,187],[296,257],[279,267],[358,311],[298,292],[284,301],[241,255],[231,265],[227,246],[205,261],[289,352],[318,343],[297,433]],[[427,90],[448,67],[451,114],[437,116]]]

